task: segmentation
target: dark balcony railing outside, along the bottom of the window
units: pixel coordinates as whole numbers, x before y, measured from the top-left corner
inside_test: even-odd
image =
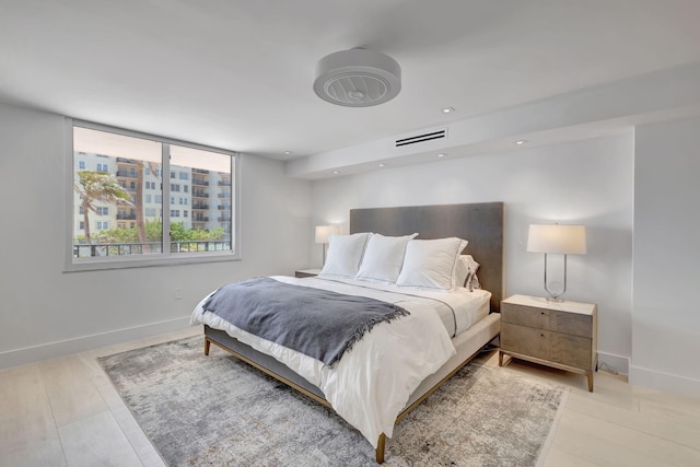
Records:
[[[231,240],[228,238],[171,242],[171,253],[226,252],[230,249]],[[73,244],[74,258],[148,255],[154,253],[163,253],[163,244],[161,242]]]

